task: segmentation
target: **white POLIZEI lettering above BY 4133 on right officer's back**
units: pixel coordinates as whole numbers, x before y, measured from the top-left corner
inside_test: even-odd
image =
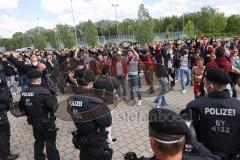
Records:
[[[227,108],[205,108],[205,115],[216,115],[216,116],[235,116],[235,109],[227,109]]]

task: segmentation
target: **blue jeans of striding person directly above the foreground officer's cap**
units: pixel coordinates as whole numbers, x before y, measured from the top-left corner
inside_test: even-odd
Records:
[[[161,77],[159,79],[160,85],[162,87],[161,92],[158,94],[158,96],[155,98],[154,103],[156,103],[158,106],[164,106],[167,104],[165,95],[168,90],[168,78],[167,77]]]

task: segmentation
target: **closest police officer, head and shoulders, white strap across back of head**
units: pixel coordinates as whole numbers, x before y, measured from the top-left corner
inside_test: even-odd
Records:
[[[192,136],[190,129],[179,114],[153,108],[149,112],[149,138],[154,156],[137,158],[129,152],[125,160],[218,160]],[[194,152],[185,152],[185,145],[191,144]]]

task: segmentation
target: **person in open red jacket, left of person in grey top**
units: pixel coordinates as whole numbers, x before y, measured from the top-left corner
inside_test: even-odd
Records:
[[[121,87],[119,87],[117,90],[119,98],[124,99],[126,101],[127,100],[127,84],[126,84],[127,62],[122,57],[121,52],[119,52],[112,61],[111,76],[116,77],[120,83]],[[121,88],[123,92],[121,92]]]

